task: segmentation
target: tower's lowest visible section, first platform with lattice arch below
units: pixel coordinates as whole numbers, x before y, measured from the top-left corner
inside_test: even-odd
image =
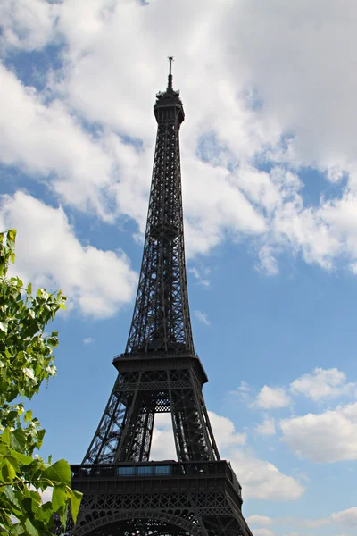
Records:
[[[253,536],[226,461],[72,465],[73,536]]]

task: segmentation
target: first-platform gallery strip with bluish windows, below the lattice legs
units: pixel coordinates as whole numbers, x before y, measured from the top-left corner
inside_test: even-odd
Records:
[[[228,477],[239,497],[242,496],[242,487],[230,464],[225,460],[220,462],[175,462],[164,460],[162,462],[124,462],[111,465],[71,465],[72,480],[85,481],[122,478],[164,478],[183,476],[202,477]]]

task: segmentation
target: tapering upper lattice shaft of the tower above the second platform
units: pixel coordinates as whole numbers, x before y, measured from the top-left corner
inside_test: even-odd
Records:
[[[179,158],[183,110],[176,92],[166,101],[159,99],[156,105],[158,129],[144,253],[126,348],[131,355],[194,353]]]

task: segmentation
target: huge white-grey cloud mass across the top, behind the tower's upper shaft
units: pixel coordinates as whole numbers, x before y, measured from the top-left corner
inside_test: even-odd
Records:
[[[3,46],[33,50],[64,40],[64,65],[47,73],[39,95],[2,71],[12,95],[2,111],[4,163],[50,178],[68,204],[111,220],[128,214],[143,230],[155,129],[148,113],[166,76],[157,62],[165,43],[179,59],[174,80],[187,111],[187,255],[206,254],[227,237],[254,237],[265,273],[278,273],[286,249],[328,270],[343,258],[357,272],[353,0],[338,11],[333,0],[312,10],[308,0],[298,10],[282,0],[274,10],[258,0],[224,0],[220,8],[214,0],[179,7],[170,0],[170,9],[163,0],[145,7],[77,0],[74,12],[66,2],[32,4],[4,0]],[[56,96],[50,103],[48,91]],[[93,135],[80,128],[82,119]],[[274,165],[265,172],[256,162]],[[300,165],[325,172],[337,187],[345,172],[347,186],[306,206]]]

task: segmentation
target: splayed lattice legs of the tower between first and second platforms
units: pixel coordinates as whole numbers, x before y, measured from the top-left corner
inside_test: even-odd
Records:
[[[179,461],[219,460],[202,384],[190,363],[179,370],[120,373],[83,464],[148,461],[154,414],[165,412]]]

